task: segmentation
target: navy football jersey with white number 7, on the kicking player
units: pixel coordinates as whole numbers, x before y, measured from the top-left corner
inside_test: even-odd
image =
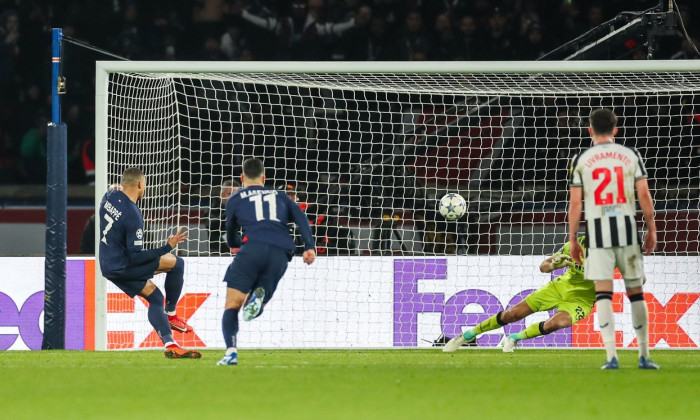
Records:
[[[143,249],[143,216],[136,203],[122,191],[109,191],[100,203],[100,269],[106,278],[125,269],[160,258],[172,250],[169,244]]]

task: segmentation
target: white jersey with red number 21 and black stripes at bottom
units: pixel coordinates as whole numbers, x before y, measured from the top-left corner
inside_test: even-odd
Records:
[[[589,248],[637,245],[634,184],[646,178],[637,150],[599,143],[574,156],[571,186],[583,187]]]

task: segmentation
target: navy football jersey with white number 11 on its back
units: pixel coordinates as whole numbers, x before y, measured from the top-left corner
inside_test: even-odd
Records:
[[[287,226],[299,226],[304,250],[315,249],[311,226],[299,205],[283,191],[262,186],[241,188],[226,203],[226,240],[232,248],[241,246],[239,228],[246,242],[273,245],[294,254],[294,240]]]

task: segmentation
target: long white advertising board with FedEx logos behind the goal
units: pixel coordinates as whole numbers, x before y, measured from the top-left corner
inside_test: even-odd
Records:
[[[454,336],[522,300],[558,273],[538,270],[540,256],[465,256],[435,258],[327,257],[312,266],[295,259],[264,316],[240,333],[245,348],[415,348],[427,347],[441,334]],[[186,258],[180,316],[194,333],[175,333],[187,347],[222,348],[220,333],[230,257]],[[0,258],[6,281],[0,284],[0,350],[41,348],[43,258]],[[208,273],[205,267],[216,267]],[[219,268],[223,267],[223,268]],[[697,349],[700,345],[700,257],[645,259],[649,282],[649,339],[654,348]],[[207,273],[205,278],[201,273]],[[498,281],[494,281],[498,279]],[[196,280],[196,281],[195,281]],[[164,276],[155,283],[162,286]],[[108,349],[160,348],[146,318],[146,302],[130,299],[107,283],[107,312],[95,313],[95,261],[67,261],[66,348],[95,348],[104,334]],[[629,301],[615,282],[613,308],[621,313],[617,345],[636,346],[629,323]],[[622,315],[624,313],[625,315]],[[95,317],[106,321],[96,331]],[[549,314],[483,335],[482,348],[495,347],[502,333],[522,329]],[[602,347],[595,311],[572,328],[523,341],[531,348]],[[243,344],[245,343],[245,344]]]

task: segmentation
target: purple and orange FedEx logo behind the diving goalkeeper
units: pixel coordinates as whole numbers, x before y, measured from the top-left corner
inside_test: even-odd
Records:
[[[395,347],[413,347],[418,342],[418,314],[440,313],[440,329],[448,337],[462,332],[463,326],[476,325],[509,306],[515,305],[533,290],[523,290],[507,302],[499,300],[488,290],[466,289],[452,296],[444,293],[419,293],[418,281],[447,279],[446,259],[411,259],[394,261],[394,339]],[[623,293],[616,293],[613,309],[623,310]],[[678,325],[680,319],[700,298],[700,293],[676,293],[665,304],[652,294],[646,293],[649,305],[649,345],[664,340],[671,347],[697,347],[691,337]],[[468,305],[481,307],[480,312],[465,312]],[[471,306],[473,307],[473,306]],[[593,310],[595,312],[595,308]],[[550,315],[554,311],[550,312]],[[629,316],[629,315],[626,315]],[[505,334],[525,328],[525,320],[504,327]],[[484,334],[479,338],[481,346],[495,346],[500,334]],[[618,346],[623,346],[623,333],[617,332]],[[543,337],[523,341],[523,347],[602,347],[600,334],[595,330],[591,314],[572,328],[557,331]],[[629,347],[635,347],[634,340]]]

